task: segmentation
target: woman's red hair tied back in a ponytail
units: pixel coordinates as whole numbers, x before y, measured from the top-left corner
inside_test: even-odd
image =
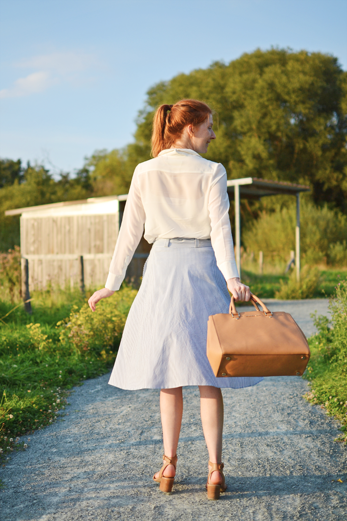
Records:
[[[174,105],[160,105],[153,119],[152,156],[170,148],[187,125],[200,125],[212,114],[203,101],[181,100]]]

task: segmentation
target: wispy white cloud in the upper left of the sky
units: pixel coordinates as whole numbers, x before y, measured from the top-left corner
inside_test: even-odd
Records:
[[[29,96],[44,92],[58,83],[79,84],[82,73],[98,65],[96,56],[84,53],[51,53],[23,60],[16,67],[36,69],[25,78],[18,78],[8,89],[0,91],[0,98]]]

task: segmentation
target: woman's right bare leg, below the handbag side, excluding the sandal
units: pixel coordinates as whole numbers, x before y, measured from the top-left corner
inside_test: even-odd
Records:
[[[199,389],[202,430],[210,462],[221,463],[224,419],[222,391],[212,386],[199,386]],[[210,476],[210,482],[213,485],[220,485],[222,481],[221,473],[215,470]]]

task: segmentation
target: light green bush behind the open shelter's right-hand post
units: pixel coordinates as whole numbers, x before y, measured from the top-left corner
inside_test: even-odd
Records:
[[[271,261],[288,262],[290,250],[295,250],[295,205],[273,212],[262,212],[243,231],[243,244],[248,251],[259,251]],[[300,247],[304,264],[327,263],[347,266],[347,217],[327,205],[322,208],[310,201],[301,203]]]

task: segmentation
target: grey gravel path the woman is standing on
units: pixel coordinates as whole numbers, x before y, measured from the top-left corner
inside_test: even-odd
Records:
[[[326,301],[267,302],[291,312],[306,334],[310,313],[327,309]],[[213,502],[198,389],[184,389],[177,481],[166,495],[151,480],[162,455],[159,391],[115,389],[108,377],[76,388],[69,415],[32,435],[2,469],[2,521],[346,519],[347,451],[333,442],[337,422],[301,398],[301,378],[223,390],[228,490]]]

